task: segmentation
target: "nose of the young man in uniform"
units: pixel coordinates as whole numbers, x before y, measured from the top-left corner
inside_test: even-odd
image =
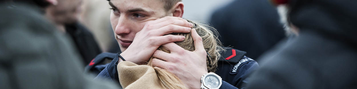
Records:
[[[130,33],[129,23],[126,22],[124,17],[120,17],[118,20],[118,24],[115,27],[115,34],[119,36],[123,36]]]

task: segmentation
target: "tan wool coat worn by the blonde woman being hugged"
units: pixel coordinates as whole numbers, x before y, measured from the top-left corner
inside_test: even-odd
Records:
[[[117,66],[119,82],[124,89],[164,89],[155,69],[148,65],[120,62]]]

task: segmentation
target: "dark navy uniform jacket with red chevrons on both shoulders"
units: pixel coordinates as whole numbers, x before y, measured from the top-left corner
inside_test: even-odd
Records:
[[[222,77],[220,89],[244,89],[248,83],[248,75],[256,70],[259,65],[256,61],[245,56],[246,52],[233,48],[226,48],[221,52],[222,57],[218,60],[216,74]],[[98,74],[95,79],[109,79],[119,82],[117,73],[119,53],[101,53],[95,57],[85,68],[86,72]],[[101,64],[105,59],[112,59],[111,63]]]

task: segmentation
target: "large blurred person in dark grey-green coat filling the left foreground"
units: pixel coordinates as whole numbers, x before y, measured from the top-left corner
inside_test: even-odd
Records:
[[[85,77],[71,42],[45,19],[56,0],[0,5],[0,89],[118,89]]]

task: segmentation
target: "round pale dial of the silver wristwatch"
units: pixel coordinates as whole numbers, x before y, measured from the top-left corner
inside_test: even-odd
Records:
[[[218,77],[214,75],[207,75],[207,77],[205,78],[205,85],[206,87],[217,88],[218,85],[220,85],[220,82]]]

